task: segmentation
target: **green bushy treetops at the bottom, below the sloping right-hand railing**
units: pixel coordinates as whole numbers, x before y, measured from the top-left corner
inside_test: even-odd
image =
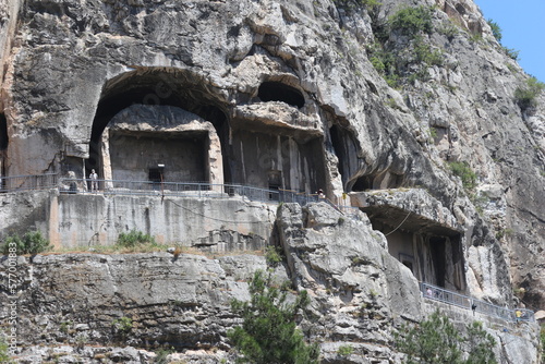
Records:
[[[396,336],[396,345],[407,354],[405,364],[496,364],[496,341],[481,323],[474,321],[462,335],[438,311],[415,326],[404,326]],[[463,359],[462,352],[469,353]]]

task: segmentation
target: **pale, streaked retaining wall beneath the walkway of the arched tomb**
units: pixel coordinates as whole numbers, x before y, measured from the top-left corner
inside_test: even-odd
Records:
[[[209,246],[215,251],[259,250],[270,238],[276,204],[242,197],[114,196],[49,192],[0,196],[3,235],[39,230],[56,247],[116,243],[133,229],[159,243]],[[34,210],[34,211],[33,211]],[[10,217],[27,218],[15,219]],[[24,222],[17,222],[24,221]]]

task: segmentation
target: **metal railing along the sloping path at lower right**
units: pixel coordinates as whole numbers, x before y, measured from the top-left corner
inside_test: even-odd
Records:
[[[446,290],[429,283],[420,283],[422,295],[426,299],[471,310],[484,315],[498,317],[508,321],[535,321],[534,312],[525,308],[506,308],[486,301]]]

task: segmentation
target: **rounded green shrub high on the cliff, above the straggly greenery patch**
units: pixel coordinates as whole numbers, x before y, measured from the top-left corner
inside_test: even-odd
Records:
[[[404,8],[389,19],[390,28],[407,36],[432,34],[432,11],[427,7]]]

